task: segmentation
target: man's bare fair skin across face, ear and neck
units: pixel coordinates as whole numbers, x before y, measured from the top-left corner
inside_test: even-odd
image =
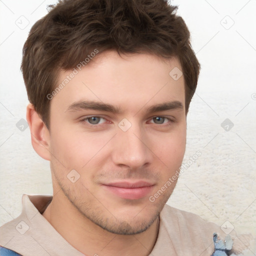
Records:
[[[181,70],[176,58],[105,51],[50,100],[49,130],[27,106],[33,148],[51,167],[53,199],[42,215],[86,255],[148,255],[155,244],[159,212],[177,180],[154,202],[148,198],[179,168],[186,142],[184,79],[172,79],[174,67]],[[68,74],[60,71],[59,83]],[[112,104],[119,112],[67,110],[79,100]],[[147,112],[169,101],[183,107]],[[123,118],[131,124],[127,131],[118,126]],[[75,182],[67,178],[72,169],[80,175]],[[137,199],[103,185],[138,180],[151,187]]]

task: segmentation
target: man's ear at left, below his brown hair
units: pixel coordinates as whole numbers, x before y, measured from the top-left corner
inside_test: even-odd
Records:
[[[49,130],[31,103],[26,107],[26,120],[30,128],[33,149],[45,160],[50,160]]]

